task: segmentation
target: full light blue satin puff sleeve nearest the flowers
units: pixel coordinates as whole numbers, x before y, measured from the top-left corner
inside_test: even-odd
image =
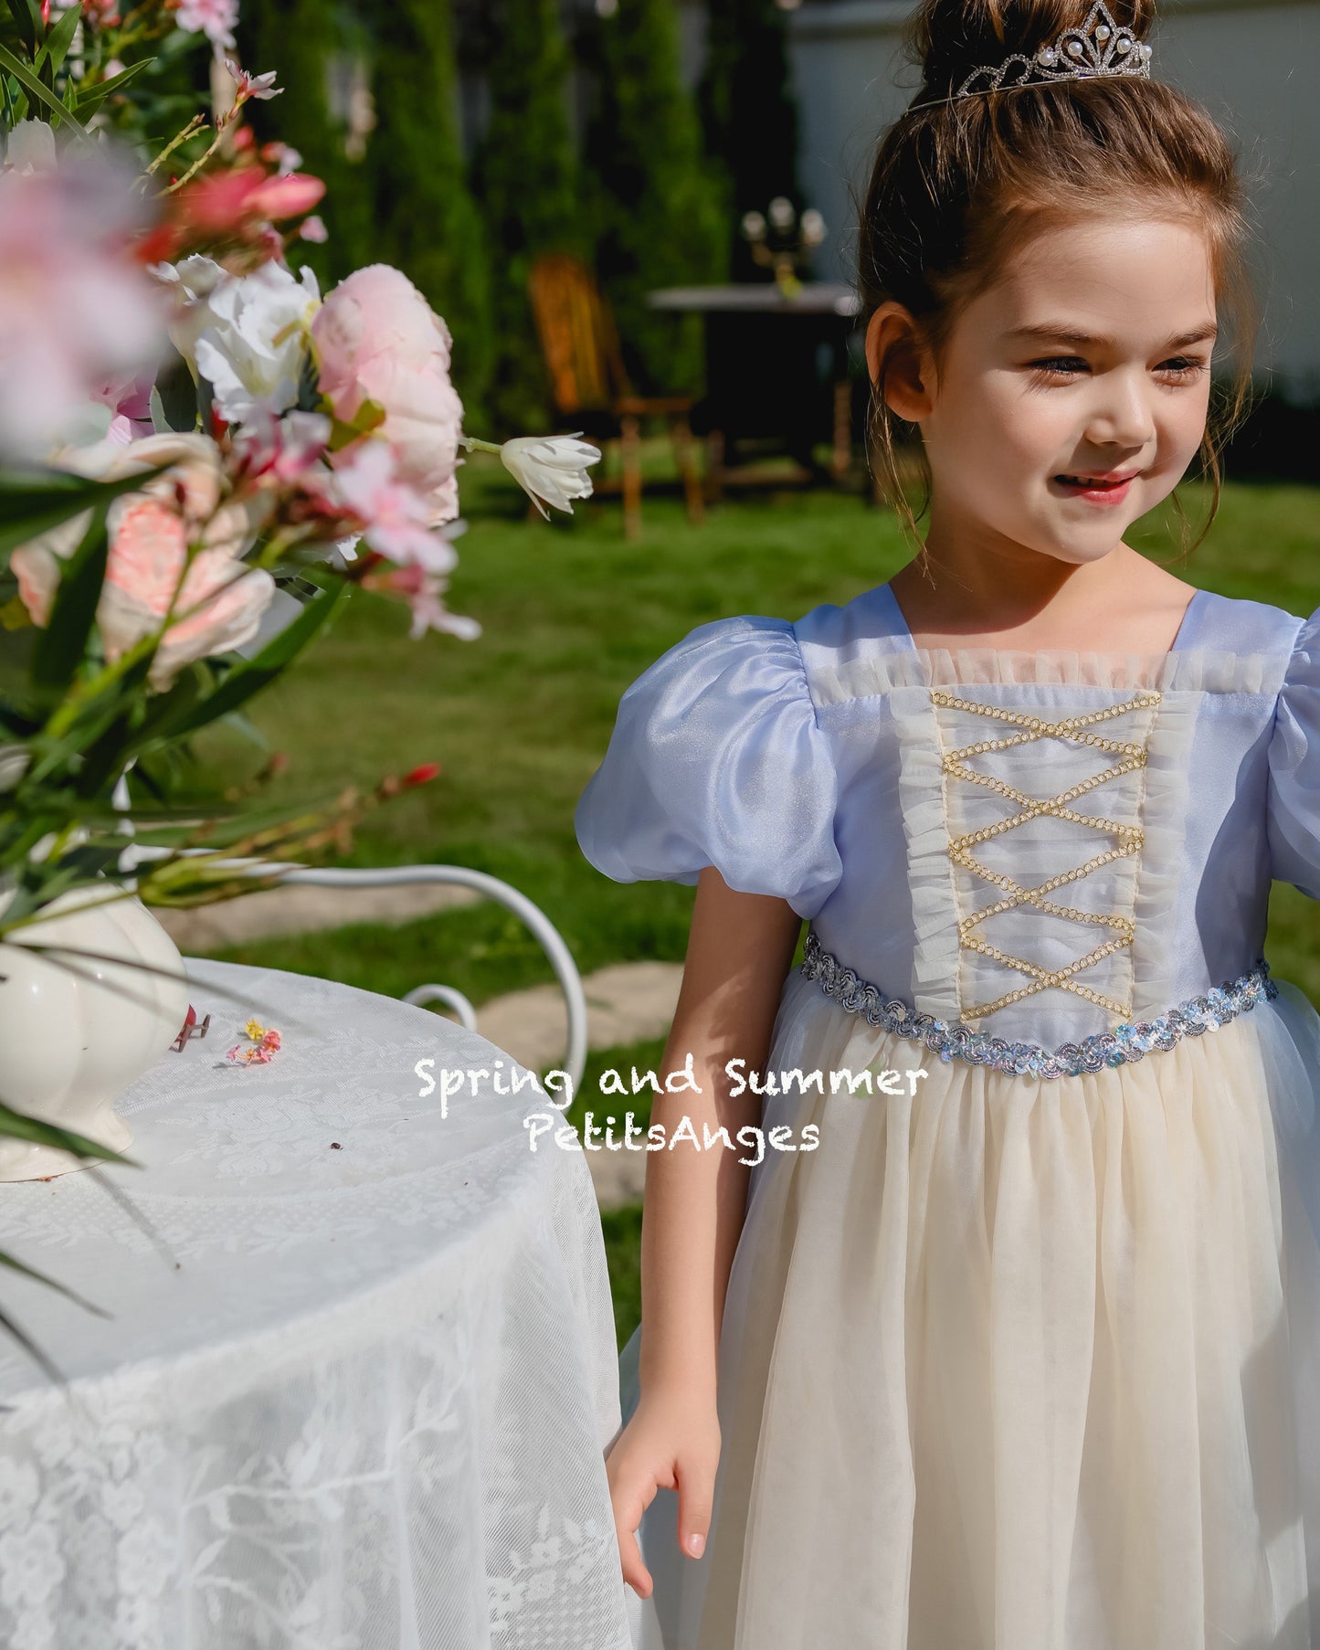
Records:
[[[574,827],[615,883],[695,884],[713,865],[738,893],[813,917],[843,874],[837,799],[792,625],[716,619],[624,693]]]

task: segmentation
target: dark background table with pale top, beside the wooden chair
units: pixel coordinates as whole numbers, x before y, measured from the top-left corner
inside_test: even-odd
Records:
[[[658,310],[700,312],[706,332],[706,394],[691,414],[708,441],[708,472],[739,462],[738,444],[774,441],[822,478],[813,447],[833,447],[835,478],[851,460],[848,340],[856,294],[842,282],[808,280],[785,299],[772,280],[719,287],[663,287],[647,294]],[[711,450],[713,447],[713,450]]]

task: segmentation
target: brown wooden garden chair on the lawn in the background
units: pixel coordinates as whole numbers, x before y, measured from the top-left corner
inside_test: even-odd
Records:
[[[639,396],[624,368],[619,333],[596,277],[568,252],[544,252],[528,277],[531,312],[546,358],[554,406],[564,426],[573,424],[596,441],[617,441],[622,480],[592,478],[594,493],[624,495],[624,535],[642,533],[640,421],[663,417],[670,426],[673,457],[683,477],[688,520],[705,520],[701,482],[693,460],[688,414],[693,396]],[[604,469],[604,465],[602,465]]]

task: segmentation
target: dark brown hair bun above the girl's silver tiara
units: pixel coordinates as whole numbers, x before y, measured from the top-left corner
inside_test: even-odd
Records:
[[[1096,0],[921,0],[908,26],[924,81],[916,101],[950,97],[982,64],[1013,53],[1035,56],[1069,28],[1082,28]],[[1155,0],[1106,0],[1119,28],[1150,33]]]

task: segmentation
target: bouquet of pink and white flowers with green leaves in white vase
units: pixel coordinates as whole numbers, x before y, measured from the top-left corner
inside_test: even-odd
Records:
[[[350,592],[406,602],[414,637],[480,634],[446,606],[464,450],[498,452],[543,515],[589,497],[599,450],[571,436],[465,434],[449,328],[401,271],[358,269],[322,295],[309,269],[289,267],[299,234],[323,233],[310,216],[323,186],[243,124],[248,102],[277,96],[272,76],[229,61],[214,119],[195,116],[150,155],[109,130],[134,135],[125,82],[150,79],[107,56],[119,13],[56,15],[50,0],[10,12],[0,1142],[84,1162],[119,1153],[104,1134],[25,1114],[7,1086],[7,980],[36,962],[84,978],[104,965],[120,987],[135,970],[162,1033],[173,1016],[163,1051],[186,1008],[167,988],[177,965],[134,964],[134,947],[104,939],[101,952],[71,944],[54,919],[248,891],[259,883],[236,858],[312,853],[398,792],[388,779],[307,812],[251,795],[221,805],[186,794],[183,752],[289,670]],[[150,0],[132,18],[168,46],[196,13],[223,51],[223,12]]]

